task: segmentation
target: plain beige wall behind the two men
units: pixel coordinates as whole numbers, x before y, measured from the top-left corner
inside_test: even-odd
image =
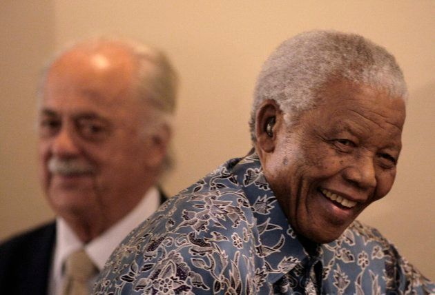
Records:
[[[49,50],[97,34],[133,37],[166,50],[182,77],[177,167],[164,184],[173,194],[249,150],[251,93],[273,48],[305,30],[336,29],[384,45],[405,72],[411,98],[396,184],[361,219],[435,278],[435,1],[52,0],[34,8],[6,2],[0,238],[52,216],[37,188],[32,130],[37,68]]]

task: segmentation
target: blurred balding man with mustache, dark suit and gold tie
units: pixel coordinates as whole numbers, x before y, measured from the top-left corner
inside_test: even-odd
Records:
[[[0,245],[0,293],[90,293],[110,253],[161,203],[175,89],[164,54],[131,41],[83,41],[48,65],[39,160],[57,221]]]

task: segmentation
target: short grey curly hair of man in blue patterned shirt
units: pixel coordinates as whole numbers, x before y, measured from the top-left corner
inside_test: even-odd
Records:
[[[291,125],[301,112],[316,106],[317,94],[331,81],[368,85],[407,99],[403,73],[385,48],[357,34],[305,32],[284,41],[262,66],[249,122],[252,141],[255,115],[264,100],[276,101]]]

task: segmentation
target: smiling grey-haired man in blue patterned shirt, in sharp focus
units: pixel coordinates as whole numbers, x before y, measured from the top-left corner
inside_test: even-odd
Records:
[[[97,294],[435,292],[354,221],[391,189],[407,90],[394,57],[354,34],[280,45],[255,89],[253,150],[134,230]]]

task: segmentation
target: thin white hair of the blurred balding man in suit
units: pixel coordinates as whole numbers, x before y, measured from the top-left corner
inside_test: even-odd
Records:
[[[63,50],[57,52],[52,59],[43,68],[41,83],[39,84],[39,97],[43,95],[43,85],[46,83],[47,74],[52,65],[61,56],[75,50],[76,48],[86,48],[88,50],[98,50],[104,45],[114,45],[124,48],[128,54],[131,54],[133,61],[137,65],[133,87],[137,97],[146,104],[151,110],[147,114],[143,134],[153,132],[155,128],[166,125],[171,132],[173,126],[173,115],[176,107],[177,96],[177,72],[171,65],[162,50],[153,48],[150,45],[144,45],[129,39],[120,39],[114,37],[97,37],[87,39],[68,45]],[[161,172],[167,172],[173,166],[173,155],[171,148],[166,153],[162,163]]]

